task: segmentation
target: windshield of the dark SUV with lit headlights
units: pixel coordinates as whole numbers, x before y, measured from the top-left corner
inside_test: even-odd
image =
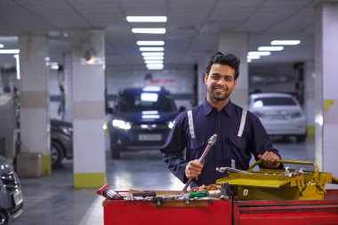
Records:
[[[135,111],[174,111],[176,107],[169,95],[155,92],[142,92],[141,94],[124,94],[120,98],[121,112]]]

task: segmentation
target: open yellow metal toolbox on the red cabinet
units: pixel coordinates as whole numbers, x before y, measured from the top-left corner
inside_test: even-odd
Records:
[[[240,171],[229,167],[217,168],[221,173],[227,172],[227,177],[221,178],[218,184],[228,183],[237,186],[238,199],[245,200],[314,200],[323,199],[326,193],[326,183],[338,184],[338,179],[332,173],[319,172],[315,162],[278,160],[281,164],[313,165],[315,170],[261,169],[254,172],[259,160],[251,165],[247,171]]]

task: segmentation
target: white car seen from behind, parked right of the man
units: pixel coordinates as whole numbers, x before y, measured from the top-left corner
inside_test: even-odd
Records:
[[[288,93],[254,93],[249,110],[260,118],[269,135],[293,135],[306,139],[306,117],[299,102]]]

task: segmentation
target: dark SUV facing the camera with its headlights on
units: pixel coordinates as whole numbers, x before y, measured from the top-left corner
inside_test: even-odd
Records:
[[[160,149],[178,114],[170,92],[163,87],[119,92],[109,123],[111,157],[119,158],[122,151]]]

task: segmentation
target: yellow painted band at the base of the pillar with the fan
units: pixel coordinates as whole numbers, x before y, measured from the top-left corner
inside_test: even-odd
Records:
[[[74,173],[74,188],[101,188],[106,183],[106,173]]]

